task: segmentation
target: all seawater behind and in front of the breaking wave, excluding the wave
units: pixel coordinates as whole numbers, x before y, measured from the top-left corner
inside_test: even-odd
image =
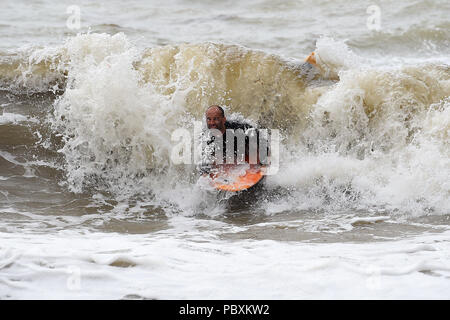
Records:
[[[449,63],[448,1],[380,1],[375,31],[372,1],[129,1],[126,10],[122,1],[79,1],[76,30],[66,25],[71,5],[2,4],[2,66],[86,32],[123,32],[139,48],[232,43],[295,61],[324,35],[367,65]],[[63,137],[48,121],[63,92],[2,88],[0,299],[450,297],[450,212],[420,199],[406,212],[371,207],[326,186],[311,199],[271,183],[200,200],[189,188],[118,196],[92,180],[72,192]],[[81,270],[81,290],[70,270]]]

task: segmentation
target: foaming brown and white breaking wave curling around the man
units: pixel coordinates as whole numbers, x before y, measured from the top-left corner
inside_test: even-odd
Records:
[[[315,53],[313,67],[237,45],[139,50],[122,33],[82,34],[4,54],[0,84],[55,95],[40,121],[60,138],[45,143],[63,155],[74,192],[196,203],[195,168],[171,163],[171,134],[220,104],[281,130],[281,167],[266,191],[288,209],[448,213],[450,67],[371,67],[327,38]]]

